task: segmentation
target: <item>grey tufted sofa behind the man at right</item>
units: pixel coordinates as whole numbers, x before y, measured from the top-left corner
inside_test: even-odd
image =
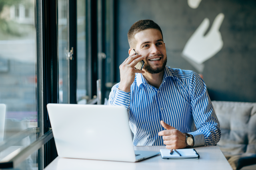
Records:
[[[212,104],[222,133],[218,147],[234,170],[256,170],[256,103]]]

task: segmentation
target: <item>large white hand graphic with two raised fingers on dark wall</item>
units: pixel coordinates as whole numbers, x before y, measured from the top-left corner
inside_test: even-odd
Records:
[[[212,23],[210,31],[204,35],[210,24],[209,19],[205,18],[186,43],[182,55],[197,64],[202,64],[218,53],[223,47],[219,31],[223,19],[224,14],[218,14]]]

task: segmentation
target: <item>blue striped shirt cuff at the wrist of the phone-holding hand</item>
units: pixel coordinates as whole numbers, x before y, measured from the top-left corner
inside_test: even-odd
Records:
[[[124,92],[117,88],[115,103],[117,105],[121,105],[121,106],[125,106],[126,108],[129,108],[130,107],[130,94],[131,94],[131,92],[127,93],[127,92]]]

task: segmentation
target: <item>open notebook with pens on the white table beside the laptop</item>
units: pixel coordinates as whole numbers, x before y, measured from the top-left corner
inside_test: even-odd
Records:
[[[171,149],[160,149],[160,153],[162,158],[175,158],[175,159],[183,159],[183,158],[199,158],[199,154],[195,149],[176,149],[177,152],[173,150],[172,154],[170,154]]]

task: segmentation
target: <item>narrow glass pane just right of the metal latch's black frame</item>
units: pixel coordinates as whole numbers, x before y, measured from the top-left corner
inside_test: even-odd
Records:
[[[78,104],[86,104],[86,3],[77,0],[77,91]]]

